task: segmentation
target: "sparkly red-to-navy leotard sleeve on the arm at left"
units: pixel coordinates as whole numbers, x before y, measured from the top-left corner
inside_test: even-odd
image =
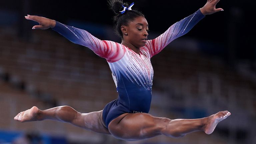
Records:
[[[100,40],[83,29],[71,27],[56,21],[53,30],[73,43],[90,48],[95,54],[109,62],[121,59],[125,53],[123,46],[113,41]]]

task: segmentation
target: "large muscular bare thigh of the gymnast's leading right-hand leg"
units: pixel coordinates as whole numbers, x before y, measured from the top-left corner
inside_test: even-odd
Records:
[[[112,120],[108,129],[118,139],[142,140],[160,135],[170,121],[148,113],[125,113]]]

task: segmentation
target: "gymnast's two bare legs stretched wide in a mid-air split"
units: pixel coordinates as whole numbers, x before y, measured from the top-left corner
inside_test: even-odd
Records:
[[[166,135],[172,138],[183,137],[195,131],[204,131],[211,134],[217,124],[230,116],[230,112],[221,111],[209,117],[200,119],[175,119],[154,117],[147,113],[125,113],[114,119],[106,128],[102,111],[79,113],[69,106],[60,106],[47,110],[32,107],[20,112],[14,117],[20,122],[55,120],[71,123],[75,126],[102,134],[111,134],[122,140],[143,140],[157,135]]]

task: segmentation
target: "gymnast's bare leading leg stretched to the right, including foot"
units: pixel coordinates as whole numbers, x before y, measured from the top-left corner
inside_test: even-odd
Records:
[[[216,125],[229,115],[228,111],[221,111],[201,119],[171,120],[147,113],[125,113],[111,121],[108,129],[114,137],[123,140],[142,140],[161,134],[178,138],[195,131],[211,134]]]

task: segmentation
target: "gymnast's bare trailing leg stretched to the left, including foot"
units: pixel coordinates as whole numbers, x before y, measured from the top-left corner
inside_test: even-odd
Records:
[[[28,122],[51,119],[55,121],[71,123],[75,126],[97,133],[110,134],[108,129],[102,123],[101,115],[102,111],[79,113],[69,106],[60,106],[47,110],[39,110],[34,106],[31,109],[20,112],[17,116],[14,117],[14,120],[20,122]]]

